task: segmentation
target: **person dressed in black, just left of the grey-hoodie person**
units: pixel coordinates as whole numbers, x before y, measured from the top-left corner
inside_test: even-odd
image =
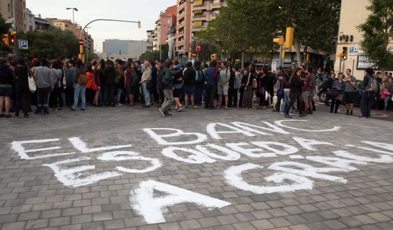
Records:
[[[20,102],[22,102],[23,118],[28,119],[30,106],[30,89],[29,89],[29,67],[24,64],[24,59],[16,58],[15,66],[15,90],[16,90],[16,108],[15,118],[19,118]]]

